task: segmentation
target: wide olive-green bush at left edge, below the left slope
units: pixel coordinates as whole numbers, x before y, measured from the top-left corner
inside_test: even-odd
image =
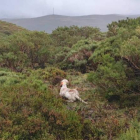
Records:
[[[45,67],[51,39],[44,32],[19,32],[1,41],[0,66],[15,71],[25,67]]]

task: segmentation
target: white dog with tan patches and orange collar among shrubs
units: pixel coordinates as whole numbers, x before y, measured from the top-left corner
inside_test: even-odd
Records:
[[[84,100],[82,100],[79,97],[79,92],[76,89],[69,89],[67,88],[67,84],[68,84],[68,80],[67,79],[63,79],[61,81],[61,89],[60,89],[60,96],[65,97],[68,99],[68,102],[74,102],[76,101],[76,99],[78,99],[79,101],[87,104],[87,102],[85,102]]]

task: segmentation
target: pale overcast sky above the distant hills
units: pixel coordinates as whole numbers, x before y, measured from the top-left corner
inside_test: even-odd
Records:
[[[140,0],[0,0],[0,18],[140,14]]]

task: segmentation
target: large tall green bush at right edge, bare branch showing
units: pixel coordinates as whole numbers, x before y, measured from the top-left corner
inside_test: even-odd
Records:
[[[127,27],[125,29],[128,30]],[[108,99],[112,95],[120,98],[140,91],[139,27],[135,30],[129,28],[133,31],[127,36],[122,34],[126,30],[121,30],[117,28],[116,35],[102,41],[91,56],[97,69],[89,74],[88,79]]]

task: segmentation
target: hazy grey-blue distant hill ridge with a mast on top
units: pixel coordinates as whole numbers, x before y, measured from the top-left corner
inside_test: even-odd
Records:
[[[61,15],[48,15],[37,18],[26,19],[5,19],[5,21],[14,23],[18,26],[24,27],[29,30],[45,31],[51,33],[60,26],[92,26],[100,28],[101,31],[107,31],[107,25],[112,21],[122,19],[136,18],[139,15],[89,15],[89,16],[61,16]]]

